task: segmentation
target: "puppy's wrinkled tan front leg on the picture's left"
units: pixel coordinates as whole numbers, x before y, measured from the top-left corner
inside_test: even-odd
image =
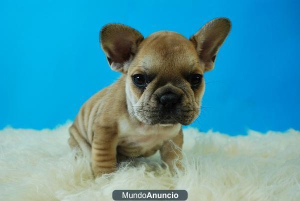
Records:
[[[91,169],[95,176],[111,173],[116,169],[116,127],[93,125]]]

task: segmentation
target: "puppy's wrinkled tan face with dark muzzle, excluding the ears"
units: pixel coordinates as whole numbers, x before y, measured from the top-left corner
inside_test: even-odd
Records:
[[[127,100],[146,124],[189,124],[199,114],[204,66],[191,41],[174,32],[144,39],[127,71]]]

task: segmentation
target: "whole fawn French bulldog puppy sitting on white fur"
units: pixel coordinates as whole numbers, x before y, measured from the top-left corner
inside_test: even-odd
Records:
[[[213,69],[230,21],[217,18],[186,39],[169,31],[143,38],[128,26],[108,24],[100,44],[121,77],[80,108],[69,128],[71,148],[89,157],[95,176],[115,171],[118,160],[157,150],[182,168],[182,125],[200,113],[206,71]]]

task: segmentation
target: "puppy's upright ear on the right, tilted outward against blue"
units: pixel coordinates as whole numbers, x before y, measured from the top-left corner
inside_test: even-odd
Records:
[[[227,18],[216,18],[206,23],[197,33],[190,37],[201,61],[204,62],[205,71],[214,67],[218,49],[225,41],[231,29],[231,22]]]

